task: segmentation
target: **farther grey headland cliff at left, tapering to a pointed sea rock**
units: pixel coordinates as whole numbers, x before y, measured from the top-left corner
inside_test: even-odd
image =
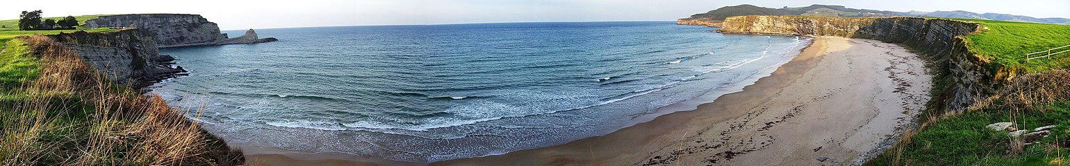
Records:
[[[101,16],[95,19],[86,20],[86,28],[134,28],[146,34],[153,36],[156,46],[185,47],[205,45],[230,45],[230,44],[256,44],[277,40],[274,38],[261,40],[251,32],[236,38],[251,38],[231,40],[226,33],[219,32],[219,26],[208,21],[200,15],[189,14],[129,14]]]

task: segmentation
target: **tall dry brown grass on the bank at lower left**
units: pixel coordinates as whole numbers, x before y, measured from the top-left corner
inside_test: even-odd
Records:
[[[243,164],[241,151],[185,117],[189,110],[107,81],[47,36],[20,39],[39,56],[41,77],[20,89],[30,99],[0,110],[9,124],[0,129],[0,165]],[[85,121],[64,122],[68,115]]]

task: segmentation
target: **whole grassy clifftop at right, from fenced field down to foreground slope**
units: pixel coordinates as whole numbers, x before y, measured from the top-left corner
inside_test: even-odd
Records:
[[[1029,77],[1058,79],[1018,79],[1005,85],[990,102],[975,104],[973,111],[930,117],[920,132],[906,136],[871,165],[1050,165],[1070,160],[1070,79],[1067,71],[1054,70],[1070,67],[1070,54],[1052,59],[1025,61],[1025,54],[1070,45],[1070,26],[1042,24],[995,20],[960,19],[979,22],[987,27],[982,33],[965,36],[967,48],[1002,66],[1018,68]],[[1063,76],[1063,77],[1057,77]],[[1014,89],[1014,90],[1010,90]],[[1025,94],[1025,95],[1023,95]],[[1019,96],[1027,96],[1020,98]],[[1056,96],[1056,97],[1050,97]],[[1043,99],[1037,97],[1045,97]],[[1029,107],[1013,105],[1034,103]],[[1011,106],[1006,106],[1011,104]],[[985,126],[995,122],[1014,122],[1018,129],[1058,124],[1052,135],[1039,144],[1023,145],[1007,131],[992,131]],[[908,133],[911,135],[914,133]]]

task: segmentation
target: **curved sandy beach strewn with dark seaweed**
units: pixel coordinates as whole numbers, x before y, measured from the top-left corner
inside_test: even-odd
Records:
[[[923,110],[931,86],[927,73],[922,61],[902,47],[817,37],[771,76],[694,111],[565,145],[431,165],[859,164]],[[270,152],[247,156],[262,165],[415,164]]]

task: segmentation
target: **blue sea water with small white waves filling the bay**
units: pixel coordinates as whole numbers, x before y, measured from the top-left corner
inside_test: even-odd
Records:
[[[265,29],[260,36],[280,40],[162,49],[190,74],[155,93],[235,145],[414,162],[482,156],[693,109],[809,44],[712,30],[661,21]]]

